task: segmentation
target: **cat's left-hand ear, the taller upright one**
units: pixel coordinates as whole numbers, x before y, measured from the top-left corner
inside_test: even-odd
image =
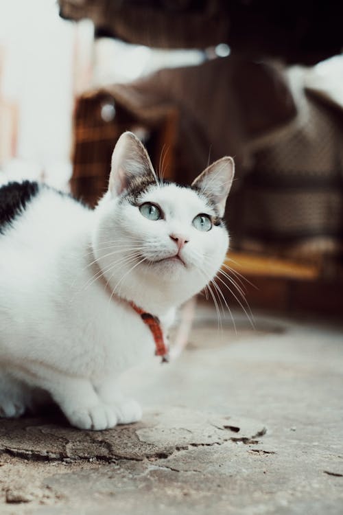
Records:
[[[129,131],[119,137],[113,150],[108,189],[113,196],[120,195],[134,177],[149,176],[155,181],[152,162],[137,136]]]

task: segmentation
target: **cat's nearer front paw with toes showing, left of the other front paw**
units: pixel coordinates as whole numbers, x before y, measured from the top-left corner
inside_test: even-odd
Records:
[[[79,429],[92,429],[103,431],[117,425],[117,415],[113,407],[108,404],[96,404],[92,407],[82,408],[67,413],[72,426]]]

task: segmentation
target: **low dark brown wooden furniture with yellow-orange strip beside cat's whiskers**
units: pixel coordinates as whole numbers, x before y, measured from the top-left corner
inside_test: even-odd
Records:
[[[267,310],[301,317],[342,317],[343,278],[324,279],[319,266],[237,252],[229,252],[225,264],[232,270],[230,277],[235,282],[240,279],[246,301],[228,285],[252,313]],[[230,308],[242,312],[237,299],[226,288],[222,291]]]

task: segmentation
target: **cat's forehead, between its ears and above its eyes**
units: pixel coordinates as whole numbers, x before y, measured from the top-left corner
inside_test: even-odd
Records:
[[[176,184],[152,185],[143,192],[139,198],[141,202],[158,203],[171,214],[176,213],[202,213],[215,214],[206,198],[198,194],[190,187],[182,187]]]

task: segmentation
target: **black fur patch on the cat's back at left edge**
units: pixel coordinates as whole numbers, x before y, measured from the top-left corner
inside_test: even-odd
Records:
[[[31,181],[8,183],[0,187],[0,233],[3,234],[6,226],[23,213],[38,191],[38,183]]]

